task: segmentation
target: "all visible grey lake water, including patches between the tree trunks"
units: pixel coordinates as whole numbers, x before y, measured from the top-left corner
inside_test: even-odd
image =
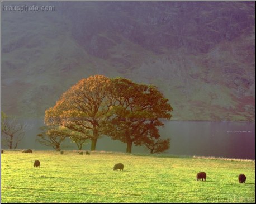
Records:
[[[26,132],[18,149],[49,149],[35,141],[38,127],[43,120],[26,120],[32,129]],[[170,137],[168,153],[176,155],[220,156],[228,158],[255,158],[254,122],[215,122],[215,121],[169,121],[160,130],[163,138]],[[68,149],[77,147],[67,141]],[[85,149],[89,149],[88,144]],[[103,137],[98,140],[97,150],[123,151],[126,145],[118,140]],[[132,146],[132,152],[148,152],[143,147]]]

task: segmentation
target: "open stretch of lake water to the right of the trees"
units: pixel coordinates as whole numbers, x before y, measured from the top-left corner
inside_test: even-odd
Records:
[[[172,121],[165,129],[172,154],[255,158],[254,122]]]

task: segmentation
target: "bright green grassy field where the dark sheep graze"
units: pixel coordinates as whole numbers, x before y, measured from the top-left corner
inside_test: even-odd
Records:
[[[34,160],[41,162],[34,168]],[[116,163],[124,171],[113,171]],[[255,163],[75,151],[4,151],[2,202],[254,202]],[[196,181],[205,171],[206,182]],[[245,184],[238,182],[244,173]]]

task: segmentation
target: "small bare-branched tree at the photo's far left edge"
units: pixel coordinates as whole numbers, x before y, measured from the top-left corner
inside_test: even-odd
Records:
[[[27,124],[21,124],[14,117],[6,116],[2,112],[1,137],[4,145],[10,149],[16,149],[23,139]]]

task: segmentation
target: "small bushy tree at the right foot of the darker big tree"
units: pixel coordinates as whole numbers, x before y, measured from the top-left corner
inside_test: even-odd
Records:
[[[170,148],[170,139],[150,139],[148,140],[146,143],[144,143],[144,145],[146,146],[146,148],[148,148],[150,150],[151,154],[154,153],[161,153],[164,152],[166,150],[168,150]]]

